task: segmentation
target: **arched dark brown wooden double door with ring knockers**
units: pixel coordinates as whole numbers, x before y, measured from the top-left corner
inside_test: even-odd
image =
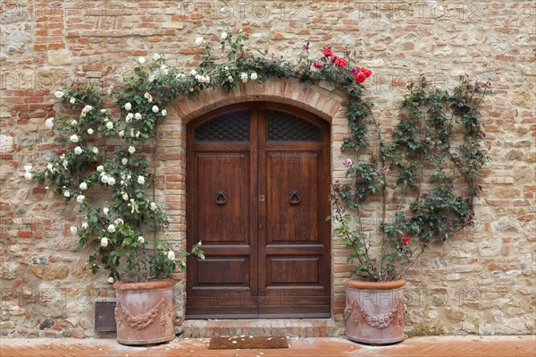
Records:
[[[187,319],[328,318],[330,127],[274,103],[188,123]]]

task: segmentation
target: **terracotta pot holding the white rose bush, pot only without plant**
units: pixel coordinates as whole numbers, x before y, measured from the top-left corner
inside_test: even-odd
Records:
[[[113,285],[120,344],[158,344],[175,337],[172,280]]]

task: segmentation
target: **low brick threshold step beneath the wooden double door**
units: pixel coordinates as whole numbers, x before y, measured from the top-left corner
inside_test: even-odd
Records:
[[[333,319],[187,319],[182,337],[213,336],[340,336]]]

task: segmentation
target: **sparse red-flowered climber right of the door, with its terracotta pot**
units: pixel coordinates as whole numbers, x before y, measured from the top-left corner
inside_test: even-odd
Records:
[[[464,80],[450,94],[430,89],[422,77],[409,86],[389,141],[369,107],[356,103],[356,110],[366,113],[365,124],[353,127],[342,149],[354,150],[358,160],[344,163],[351,181],[332,183],[330,197],[335,232],[349,250],[348,261],[356,262],[356,278],[345,281],[349,339],[402,341],[404,274],[431,245],[473,224],[473,200],[482,191],[478,179],[488,158],[478,107],[488,87]],[[375,128],[375,148],[363,140],[367,124]],[[380,212],[376,232],[362,217],[371,208]]]

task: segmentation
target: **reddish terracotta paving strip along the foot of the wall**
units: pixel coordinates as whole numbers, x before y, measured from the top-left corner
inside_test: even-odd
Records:
[[[370,346],[345,338],[291,338],[278,350],[207,350],[208,339],[178,338],[153,347],[129,347],[113,339],[0,338],[1,357],[535,357],[536,336],[433,336]]]

